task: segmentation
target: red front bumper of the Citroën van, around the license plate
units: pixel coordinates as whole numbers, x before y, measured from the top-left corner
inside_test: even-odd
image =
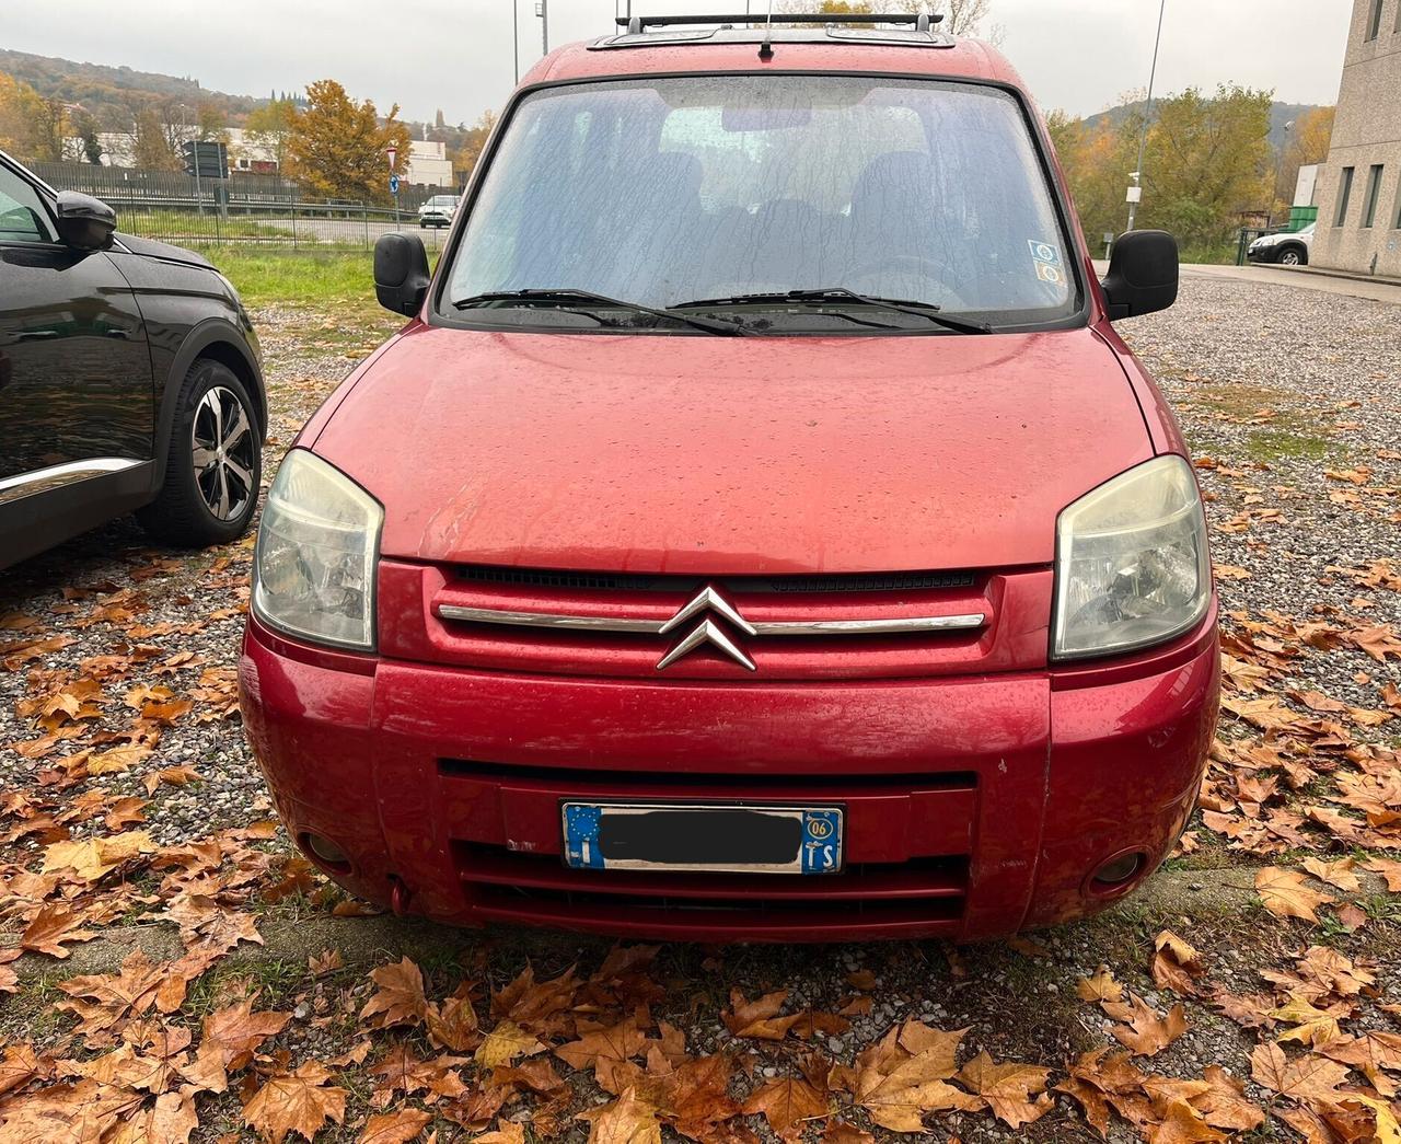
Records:
[[[764,684],[336,655],[249,620],[240,693],[287,830],[332,840],[349,861],[328,872],[371,900],[664,939],[968,941],[1093,913],[1166,857],[1215,729],[1215,622],[1107,666]],[[839,801],[848,865],[566,869],[565,798]],[[1124,851],[1140,875],[1093,883]]]

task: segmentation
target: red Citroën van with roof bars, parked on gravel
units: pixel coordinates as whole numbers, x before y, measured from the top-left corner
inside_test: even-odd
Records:
[[[972,939],[1122,896],[1191,815],[1206,524],[1111,325],[1173,303],[1175,244],[1096,280],[986,45],[796,22],[553,52],[436,272],[380,240],[409,321],[273,481],[240,666],[352,892]]]

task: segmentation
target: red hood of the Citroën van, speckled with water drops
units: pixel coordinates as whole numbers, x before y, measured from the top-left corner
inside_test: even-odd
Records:
[[[415,324],[314,442],[384,555],[677,575],[1045,565],[1153,456],[1090,329],[873,338]]]

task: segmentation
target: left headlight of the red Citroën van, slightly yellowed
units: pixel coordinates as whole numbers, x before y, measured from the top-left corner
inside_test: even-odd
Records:
[[[254,555],[258,617],[317,644],[374,646],[384,509],[314,453],[293,449],[268,489]]]

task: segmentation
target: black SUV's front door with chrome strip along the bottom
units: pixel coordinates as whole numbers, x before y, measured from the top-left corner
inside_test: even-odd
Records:
[[[46,196],[0,160],[0,508],[147,461],[154,419],[126,279],[59,241]]]

